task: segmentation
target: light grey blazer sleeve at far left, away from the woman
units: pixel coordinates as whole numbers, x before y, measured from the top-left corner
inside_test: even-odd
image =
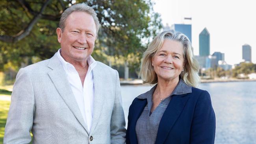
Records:
[[[31,141],[30,131],[35,112],[35,98],[33,84],[24,68],[20,69],[8,112],[4,133],[4,144],[28,144]]]

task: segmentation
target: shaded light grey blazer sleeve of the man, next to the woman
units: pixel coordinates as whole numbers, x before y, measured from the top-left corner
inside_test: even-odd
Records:
[[[115,102],[111,115],[110,134],[111,144],[125,144],[125,118],[122,108],[121,87],[118,72],[116,72]]]

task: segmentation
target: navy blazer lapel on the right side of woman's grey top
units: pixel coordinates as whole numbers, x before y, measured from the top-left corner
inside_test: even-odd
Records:
[[[189,99],[187,94],[173,95],[169,105],[167,106],[163,116],[161,118],[158,133],[156,136],[156,144],[163,144],[174,123],[180,116],[180,113],[184,109],[187,100]]]

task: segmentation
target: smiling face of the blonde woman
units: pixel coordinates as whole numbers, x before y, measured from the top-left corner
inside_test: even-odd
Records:
[[[165,39],[160,50],[152,57],[158,81],[179,80],[184,68],[184,50],[180,42]]]

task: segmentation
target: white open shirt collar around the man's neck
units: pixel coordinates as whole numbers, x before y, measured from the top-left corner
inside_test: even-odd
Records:
[[[63,59],[63,57],[61,56],[60,52],[61,52],[61,48],[58,50],[57,56],[58,56],[59,60],[61,61],[61,64],[62,64],[64,70],[67,72],[67,70],[68,70],[67,66],[74,68],[74,66],[72,64],[68,63],[67,61],[65,61],[65,59]],[[93,59],[93,57],[91,55],[88,57],[87,63],[89,65],[88,72],[93,70],[93,68],[95,68],[95,66],[97,64],[95,59]]]

